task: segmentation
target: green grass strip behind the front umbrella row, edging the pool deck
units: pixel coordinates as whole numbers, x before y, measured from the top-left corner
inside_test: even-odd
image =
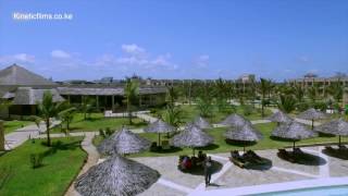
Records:
[[[276,149],[276,148],[283,148],[285,146],[291,146],[293,142],[286,142],[286,140],[275,140],[272,139],[271,133],[275,128],[275,123],[263,123],[263,124],[257,124],[254,127],[259,130],[263,134],[263,139],[257,143],[253,146],[247,147],[248,149]],[[214,144],[210,145],[208,147],[198,148],[206,152],[228,152],[233,149],[243,150],[243,144],[238,143],[231,143],[226,142],[223,134],[225,133],[226,127],[219,127],[219,128],[212,128],[207,131],[211,136],[214,137]],[[140,136],[148,138],[151,142],[158,140],[157,134],[149,134],[149,133],[141,133]],[[165,137],[162,137],[162,139],[167,139]],[[94,144],[97,146],[102,140],[102,137],[97,136],[94,139]],[[316,143],[328,143],[328,142],[337,142],[337,137],[328,137],[328,136],[322,136],[322,137],[315,137],[311,139],[304,139],[301,142],[296,143],[297,145],[304,145],[304,144],[316,144]],[[145,151],[137,155],[132,155],[134,157],[160,157],[160,156],[176,156],[176,155],[191,155],[192,150],[189,148],[173,148],[169,151],[163,152],[152,152],[152,151]]]

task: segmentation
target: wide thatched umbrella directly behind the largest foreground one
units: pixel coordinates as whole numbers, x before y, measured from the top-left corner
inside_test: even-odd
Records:
[[[98,151],[101,154],[137,154],[149,149],[151,143],[139,135],[123,127],[115,132],[109,138],[104,139],[98,146]]]

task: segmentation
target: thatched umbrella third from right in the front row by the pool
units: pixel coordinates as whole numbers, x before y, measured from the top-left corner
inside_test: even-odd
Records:
[[[243,150],[246,151],[246,143],[252,143],[262,139],[262,134],[254,130],[251,125],[245,124],[241,127],[233,127],[227,130],[224,136],[232,140],[244,142]]]

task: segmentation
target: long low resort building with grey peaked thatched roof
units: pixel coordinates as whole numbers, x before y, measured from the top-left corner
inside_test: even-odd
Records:
[[[0,115],[17,118],[37,113],[37,103],[42,100],[45,91],[50,90],[53,101],[67,100],[80,105],[84,98],[94,100],[96,110],[125,110],[124,84],[113,83],[54,83],[20,65],[13,64],[0,71],[0,97],[11,101]],[[140,85],[139,108],[163,105],[166,88]]]

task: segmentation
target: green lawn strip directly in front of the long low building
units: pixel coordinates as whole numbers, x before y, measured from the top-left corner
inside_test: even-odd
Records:
[[[133,124],[128,125],[127,118],[104,118],[102,113],[91,113],[90,118],[84,120],[83,113],[76,113],[73,122],[70,124],[70,132],[91,132],[98,131],[99,128],[111,128],[117,130],[123,125],[129,128],[140,128],[147,125],[146,122],[138,118],[133,118]],[[65,127],[65,124],[62,124]],[[61,133],[61,127],[57,126],[52,130],[52,133]]]

